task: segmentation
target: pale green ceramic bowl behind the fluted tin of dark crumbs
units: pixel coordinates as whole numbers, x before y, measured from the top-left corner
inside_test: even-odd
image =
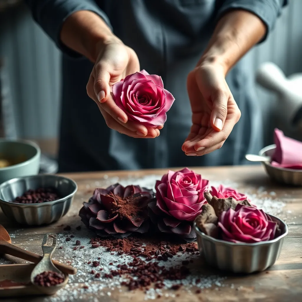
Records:
[[[41,150],[39,146],[27,140],[0,139],[0,159],[24,157],[16,165],[0,168],[0,184],[15,177],[37,175],[40,166]]]

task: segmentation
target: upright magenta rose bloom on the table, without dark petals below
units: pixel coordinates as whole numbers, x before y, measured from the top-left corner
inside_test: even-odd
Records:
[[[193,221],[206,203],[204,191],[209,181],[188,168],[168,171],[156,182],[156,206],[178,220]]]

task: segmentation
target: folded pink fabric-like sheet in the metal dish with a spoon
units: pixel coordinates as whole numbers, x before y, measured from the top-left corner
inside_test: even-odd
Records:
[[[275,129],[275,153],[271,165],[288,169],[302,169],[302,142],[284,136],[283,132]]]

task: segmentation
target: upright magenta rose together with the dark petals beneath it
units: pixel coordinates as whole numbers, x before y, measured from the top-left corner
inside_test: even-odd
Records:
[[[148,204],[149,216],[161,232],[195,239],[192,223],[206,202],[209,181],[188,168],[169,171],[156,182],[156,202]]]

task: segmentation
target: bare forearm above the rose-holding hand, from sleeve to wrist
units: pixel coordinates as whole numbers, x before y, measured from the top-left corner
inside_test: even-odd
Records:
[[[77,11],[63,23],[60,39],[64,45],[86,56],[92,62],[100,44],[116,38],[101,17],[92,11]]]

